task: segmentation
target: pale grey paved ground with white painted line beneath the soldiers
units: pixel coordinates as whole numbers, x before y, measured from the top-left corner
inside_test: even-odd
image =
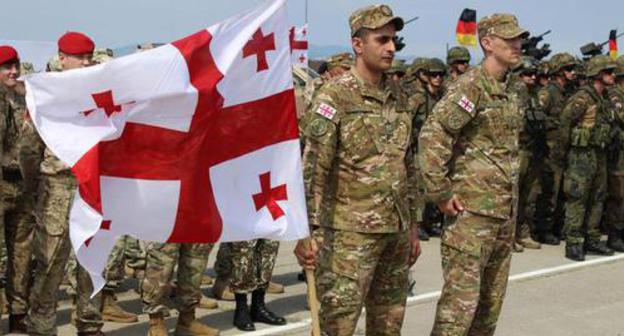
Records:
[[[309,335],[305,309],[305,286],[296,279],[299,268],[292,255],[293,244],[284,243],[280,249],[275,280],[286,285],[286,294],[270,296],[269,306],[287,316],[287,328],[275,329],[257,325],[259,331],[246,335]],[[211,256],[210,265],[214,262]],[[624,257],[621,256],[621,257]],[[596,260],[596,257],[590,258]],[[530,275],[530,279],[515,279],[508,290],[498,335],[622,335],[624,336],[624,258],[612,258],[608,263],[579,265],[573,270],[560,269],[561,265],[573,265],[563,258],[563,246],[546,247],[537,251],[515,254],[512,275]],[[564,266],[566,268],[567,266]],[[555,268],[555,274],[551,271]],[[548,276],[529,274],[547,270]],[[209,269],[208,273],[211,273]],[[417,297],[412,299],[406,315],[405,335],[427,335],[431,329],[436,303],[436,292],[442,279],[439,257],[439,240],[423,242],[423,254],[414,266]],[[135,282],[129,280],[119,299],[125,308],[141,312],[141,301],[132,290]],[[210,288],[204,288],[210,295]],[[71,326],[71,304],[61,295],[59,307],[59,335],[75,335]],[[222,335],[238,335],[231,326],[234,304],[220,302],[217,310],[199,310],[202,321],[222,330]],[[175,314],[167,320],[173,331]],[[7,328],[6,318],[2,321]],[[294,328],[293,327],[298,327]],[[106,323],[107,335],[145,335],[147,316],[131,325]],[[358,330],[363,335],[363,328]]]

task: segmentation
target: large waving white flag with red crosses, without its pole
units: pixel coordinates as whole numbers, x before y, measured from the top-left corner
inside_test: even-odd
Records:
[[[70,238],[96,290],[124,234],[308,235],[285,2],[143,53],[26,78],[41,137],[79,181]]]

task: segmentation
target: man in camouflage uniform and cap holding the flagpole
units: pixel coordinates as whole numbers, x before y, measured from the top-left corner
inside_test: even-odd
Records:
[[[315,239],[300,241],[295,254],[316,268],[323,332],[353,335],[365,306],[368,335],[399,335],[408,269],[420,254],[408,198],[416,186],[407,183],[412,109],[384,74],[403,20],[374,5],[349,23],[355,66],[321,88],[305,128],[308,214],[323,243],[318,251]]]

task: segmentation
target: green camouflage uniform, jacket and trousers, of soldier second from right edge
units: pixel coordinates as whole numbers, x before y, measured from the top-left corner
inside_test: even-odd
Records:
[[[582,87],[562,112],[564,145],[570,146],[564,172],[566,243],[600,240],[600,221],[606,199],[607,147],[611,119],[604,97],[592,86]]]

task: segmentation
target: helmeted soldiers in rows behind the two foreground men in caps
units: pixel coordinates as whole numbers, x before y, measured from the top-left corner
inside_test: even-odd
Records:
[[[401,84],[416,108],[414,139],[436,103],[470,69],[470,61],[469,50],[457,46],[447,52],[446,63],[424,57],[415,58],[409,66],[403,60],[393,62],[387,73]],[[313,92],[348,71],[352,63],[351,53],[329,57],[321,66],[321,78],[306,91],[308,105]],[[605,73],[612,73],[613,79],[601,78]],[[510,70],[510,86],[524,111],[516,252],[539,249],[541,244],[559,245],[561,240],[566,241],[566,257],[575,261],[584,260],[587,252],[624,252],[623,83],[624,56],[616,61],[607,56],[583,61],[565,52],[544,61],[523,56]],[[577,115],[581,112],[572,111],[574,104],[596,111]],[[579,162],[576,156],[581,145],[592,150],[601,147],[604,155]],[[421,240],[442,234],[445,218],[434,204],[426,203],[421,217]],[[608,234],[606,244],[600,241],[603,233]]]

